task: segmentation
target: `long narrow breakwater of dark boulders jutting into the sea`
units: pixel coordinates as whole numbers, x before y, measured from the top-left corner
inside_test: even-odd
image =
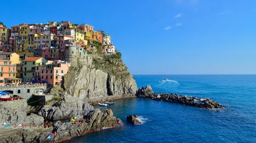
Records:
[[[139,88],[137,92],[137,97],[151,98],[152,100],[157,101],[167,101],[172,103],[179,103],[187,106],[203,107],[207,109],[213,108],[224,108],[224,105],[218,104],[215,101],[212,101],[210,98],[197,98],[193,96],[184,96],[177,94],[155,94],[150,85],[147,85],[145,88]]]

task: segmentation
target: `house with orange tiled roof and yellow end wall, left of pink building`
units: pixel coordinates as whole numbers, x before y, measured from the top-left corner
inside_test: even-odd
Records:
[[[23,73],[23,81],[40,80],[41,68],[46,65],[46,62],[44,57],[28,57],[23,60],[23,67],[20,69]]]

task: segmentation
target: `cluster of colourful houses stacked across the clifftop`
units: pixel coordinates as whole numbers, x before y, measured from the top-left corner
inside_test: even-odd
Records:
[[[90,42],[104,45],[105,54],[116,54],[111,35],[92,25],[69,21],[20,24],[11,29],[0,25],[0,85],[48,83],[58,85],[72,58],[92,62]]]

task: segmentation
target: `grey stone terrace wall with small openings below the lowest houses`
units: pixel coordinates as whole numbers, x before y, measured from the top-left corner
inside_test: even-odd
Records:
[[[44,91],[47,89],[46,84],[44,85],[27,85],[27,86],[14,86],[14,87],[0,87],[1,91],[12,91],[9,93],[12,93],[13,95],[18,95],[21,98],[30,98],[34,91],[38,89],[43,89]]]

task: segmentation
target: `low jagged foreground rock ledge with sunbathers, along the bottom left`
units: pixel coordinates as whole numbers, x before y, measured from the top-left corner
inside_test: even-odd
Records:
[[[53,127],[47,129],[4,129],[0,130],[0,143],[58,143],[68,140],[72,137],[84,135],[88,132],[94,132],[98,129],[115,127],[122,124],[120,119],[113,116],[111,109],[101,112],[94,109],[87,116],[85,122],[81,126],[71,122],[55,123]],[[47,139],[53,132],[57,132],[55,137]]]

